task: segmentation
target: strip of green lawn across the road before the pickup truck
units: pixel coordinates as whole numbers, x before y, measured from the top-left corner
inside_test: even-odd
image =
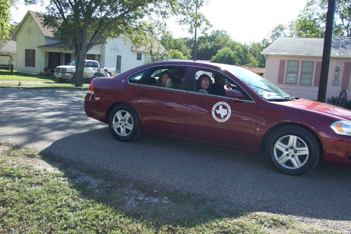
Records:
[[[9,82],[5,82],[9,81]],[[38,81],[33,83],[33,81]],[[31,83],[32,82],[32,83]],[[44,76],[39,74],[27,74],[17,72],[11,73],[6,70],[0,70],[0,88],[77,88],[73,83],[66,81],[65,83],[57,82],[57,78],[53,76]],[[83,88],[89,87],[89,81],[83,80]],[[80,88],[80,87],[78,87]]]

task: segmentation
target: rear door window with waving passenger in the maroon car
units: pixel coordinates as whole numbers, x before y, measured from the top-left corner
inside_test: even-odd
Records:
[[[187,70],[187,66],[154,67],[146,85],[183,90]]]

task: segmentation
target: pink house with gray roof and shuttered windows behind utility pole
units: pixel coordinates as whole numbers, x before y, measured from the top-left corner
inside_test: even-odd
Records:
[[[265,78],[285,92],[317,100],[323,38],[278,38],[261,54],[266,57]],[[326,98],[345,89],[351,98],[351,39],[332,39]]]

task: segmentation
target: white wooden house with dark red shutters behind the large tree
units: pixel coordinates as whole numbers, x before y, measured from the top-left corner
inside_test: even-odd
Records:
[[[37,12],[28,11],[14,35],[17,36],[17,70],[37,74],[53,72],[55,67],[74,60],[73,52],[62,48],[60,38],[42,25]],[[153,41],[153,51],[165,52],[157,40]],[[107,44],[91,48],[86,59],[98,60],[100,66],[115,67],[116,74],[143,65],[150,54],[146,47],[135,48],[130,39],[125,44],[123,38],[107,39]]]

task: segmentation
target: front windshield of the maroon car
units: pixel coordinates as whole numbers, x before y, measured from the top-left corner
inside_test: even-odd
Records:
[[[268,80],[246,69],[229,69],[230,73],[249,85],[256,93],[266,100],[276,98],[291,99],[292,97],[283,90],[273,85]]]

